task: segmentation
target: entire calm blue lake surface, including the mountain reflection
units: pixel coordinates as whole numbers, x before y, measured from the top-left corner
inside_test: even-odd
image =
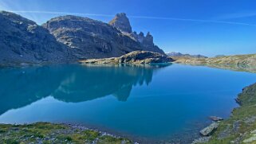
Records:
[[[138,142],[191,142],[256,74],[181,64],[0,69],[0,123],[73,123]]]

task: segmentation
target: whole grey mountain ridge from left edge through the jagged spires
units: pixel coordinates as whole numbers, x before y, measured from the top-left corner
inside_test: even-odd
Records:
[[[118,57],[138,50],[162,53],[155,49],[150,33],[131,37],[131,25],[122,15],[125,16],[117,14],[112,25],[68,15],[52,18],[41,26],[18,14],[1,11],[0,65],[67,63]]]

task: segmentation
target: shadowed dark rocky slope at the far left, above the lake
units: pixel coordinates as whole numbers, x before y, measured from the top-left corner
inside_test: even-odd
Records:
[[[66,62],[68,49],[47,29],[18,14],[0,12],[0,64]]]

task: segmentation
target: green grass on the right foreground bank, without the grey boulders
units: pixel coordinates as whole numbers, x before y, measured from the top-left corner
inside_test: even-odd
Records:
[[[213,134],[210,144],[226,144],[231,141],[242,143],[243,140],[253,136],[250,132],[256,130],[256,84],[245,88],[241,94],[238,95],[241,102],[241,107],[235,108],[232,111],[230,119],[226,119],[220,123],[218,130]],[[234,129],[234,124],[239,123],[237,129]],[[219,134],[223,131],[229,130],[229,134],[220,139]],[[251,142],[256,143],[256,142]]]

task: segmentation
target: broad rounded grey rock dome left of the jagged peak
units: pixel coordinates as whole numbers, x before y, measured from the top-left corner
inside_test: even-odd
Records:
[[[120,33],[111,25],[90,18],[63,16],[52,18],[43,25],[68,45],[78,59],[121,56],[141,50],[140,43]]]

